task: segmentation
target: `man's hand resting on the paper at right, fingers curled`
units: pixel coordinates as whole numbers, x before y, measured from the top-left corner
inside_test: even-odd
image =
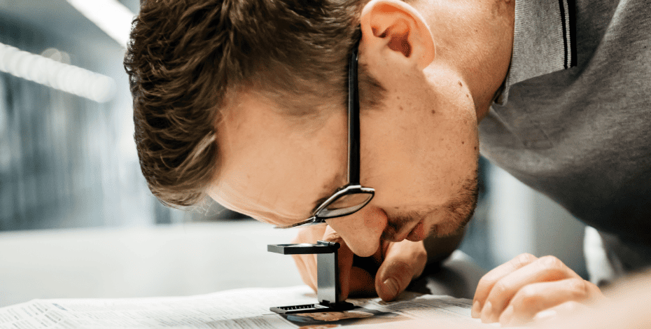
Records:
[[[603,298],[597,286],[558,258],[524,253],[482,277],[472,301],[472,317],[481,317],[484,323],[521,325]]]

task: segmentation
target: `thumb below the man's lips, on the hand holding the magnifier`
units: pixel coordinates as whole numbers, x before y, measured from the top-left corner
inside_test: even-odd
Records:
[[[398,297],[412,279],[423,273],[426,262],[427,252],[422,241],[405,240],[390,244],[375,276],[377,295],[384,301]]]

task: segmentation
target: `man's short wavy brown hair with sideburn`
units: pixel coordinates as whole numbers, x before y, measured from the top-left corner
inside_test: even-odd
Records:
[[[367,1],[141,1],[124,64],[152,193],[172,207],[202,200],[218,174],[216,123],[234,90],[255,90],[294,116],[332,99],[344,109],[346,58]],[[360,67],[361,102],[376,103],[381,89]]]

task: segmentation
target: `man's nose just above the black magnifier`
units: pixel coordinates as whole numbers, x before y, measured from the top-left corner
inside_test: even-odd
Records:
[[[387,218],[382,209],[368,205],[355,214],[331,218],[326,222],[339,233],[353,253],[369,257],[379,248]]]

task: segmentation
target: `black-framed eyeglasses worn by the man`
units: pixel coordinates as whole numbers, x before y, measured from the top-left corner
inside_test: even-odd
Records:
[[[305,221],[276,228],[325,224],[329,218],[348,216],[371,201],[375,190],[359,183],[359,94],[357,82],[359,43],[353,47],[348,67],[348,183],[332,193]]]

